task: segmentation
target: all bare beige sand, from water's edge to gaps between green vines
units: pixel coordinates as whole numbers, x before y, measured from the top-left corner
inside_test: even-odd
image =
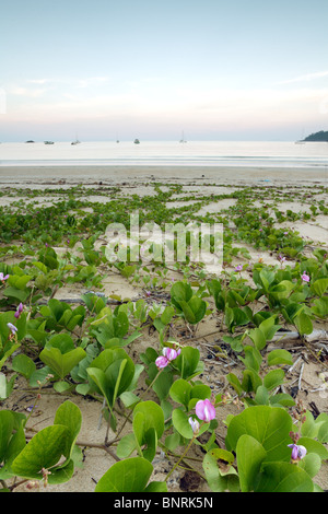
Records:
[[[242,167],[197,167],[197,166],[70,166],[70,167],[1,167],[0,166],[0,191],[4,195],[0,198],[1,205],[12,203],[14,200],[22,199],[22,197],[10,197],[5,196],[5,191],[10,191],[10,187],[13,188],[31,188],[31,189],[43,189],[43,188],[61,188],[69,189],[74,185],[83,185],[84,187],[94,187],[102,183],[104,186],[116,186],[120,187],[120,195],[129,197],[130,195],[151,195],[154,194],[154,189],[149,187],[152,183],[171,184],[176,183],[184,186],[184,195],[194,194],[196,197],[200,194],[230,194],[233,192],[234,187],[247,186],[247,185],[259,185],[259,186],[281,186],[283,188],[290,188],[295,190],[300,186],[304,187],[311,192],[312,187],[317,185],[328,185],[328,171],[318,168],[313,170],[274,170],[274,168],[242,168]],[[321,195],[324,201],[327,200],[327,195]],[[188,205],[181,202],[183,195],[174,197],[176,200],[176,207],[180,205]],[[49,199],[49,197],[43,198],[42,196],[35,197],[38,202],[51,202],[58,201],[58,196]],[[106,197],[87,197],[89,201],[106,201]],[[110,198],[108,198],[108,201]],[[221,202],[221,203],[220,203]],[[281,203],[286,205],[286,199],[282,199]],[[220,211],[222,208],[229,208],[233,202],[220,200],[215,205],[209,206],[209,211],[215,212],[215,209]],[[301,202],[291,202],[293,209],[296,211],[304,209],[304,205]],[[171,203],[173,207],[174,203]],[[308,206],[307,206],[308,207]],[[306,207],[306,208],[307,208]],[[206,207],[202,207],[202,212],[206,211]],[[304,236],[311,235],[316,238],[315,243],[327,244],[328,226],[325,217],[318,217],[318,221],[315,226],[312,223],[286,223],[285,226],[293,226],[300,230]],[[315,237],[314,237],[315,236]],[[246,246],[246,245],[243,245]],[[328,246],[328,245],[327,245]],[[59,248],[58,248],[59,250]],[[251,247],[248,247],[251,259],[258,259],[258,253]],[[272,255],[265,253],[261,255],[266,264],[277,264]],[[120,294],[121,297],[144,297],[142,288],[131,285],[127,280],[117,273],[109,273],[104,283],[105,294]],[[56,297],[66,299],[74,297],[81,294],[81,288],[77,284],[72,288],[62,288],[58,291]],[[150,300],[152,301],[152,300]],[[320,326],[323,328],[323,325]],[[324,324],[324,328],[327,330],[327,323]],[[186,339],[187,343],[195,344],[201,353],[201,359],[204,361],[204,373],[201,379],[209,384],[214,394],[223,390],[226,385],[225,375],[233,371],[238,374],[242,367],[238,362],[232,360],[213,360],[211,354],[211,347],[213,344],[222,343],[222,336],[224,332],[216,325],[214,317],[208,317],[206,322],[199,325],[197,337],[192,340]],[[186,335],[176,334],[177,338],[186,337]],[[189,342],[188,342],[189,341]],[[137,343],[132,344],[131,355],[137,357],[138,353],[144,351],[149,346],[156,348],[157,335],[145,332],[142,340],[138,340]],[[297,342],[291,346],[294,351],[295,358],[298,354],[305,357],[302,388],[298,392],[297,398],[302,399],[308,407],[315,405],[320,412],[327,412],[327,395],[320,393],[317,389],[321,386],[321,382],[318,377],[321,371],[320,366],[313,360],[306,360],[306,350],[304,347],[297,348]],[[138,353],[137,353],[138,351]],[[290,381],[297,381],[300,377],[300,366],[293,370]],[[26,387],[26,383],[22,378],[19,386],[10,398],[3,402],[1,408],[15,409],[24,412],[26,406],[33,402],[33,395],[25,393],[23,389]],[[30,395],[30,396],[28,396]],[[66,399],[72,399],[82,411],[82,429],[78,437],[78,442],[83,447],[83,467],[77,468],[73,478],[60,486],[49,486],[45,491],[56,492],[92,492],[94,491],[96,481],[104,475],[104,472],[115,464],[115,459],[103,449],[96,447],[97,444],[102,444],[105,437],[106,425],[103,421],[98,427],[101,405],[97,401],[91,401],[90,399],[83,398],[82,396],[60,396],[58,394],[43,394],[38,401],[38,408],[36,414],[31,420],[31,425],[35,430],[40,430],[52,423],[57,407]],[[229,413],[238,413],[237,406],[227,406],[218,409],[219,417],[219,429],[216,431],[219,441],[224,442],[225,425],[223,420]],[[128,430],[130,430],[128,428]],[[196,457],[203,458],[203,454],[199,448],[196,448]],[[154,462],[154,474],[153,480],[163,480],[167,471],[171,469],[173,462],[168,462],[162,454],[157,454]],[[201,465],[199,465],[200,472],[203,472]],[[192,480],[184,480],[185,471],[179,469],[176,470],[168,482],[168,490],[174,491],[208,491],[207,483],[203,480],[196,480],[192,484]],[[195,477],[194,477],[195,478]],[[321,470],[316,478],[316,481],[324,488],[328,489],[328,477],[327,477],[327,464],[321,467]],[[187,482],[187,486],[185,483]],[[17,489],[17,491],[24,491],[24,487]]]

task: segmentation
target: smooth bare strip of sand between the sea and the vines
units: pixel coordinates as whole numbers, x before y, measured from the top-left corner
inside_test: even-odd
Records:
[[[254,167],[254,166],[143,166],[143,165],[70,165],[70,166],[0,166],[0,185],[90,185],[99,182],[113,185],[120,182],[201,180],[216,184],[326,183],[328,168],[316,167]],[[58,184],[60,183],[60,184]]]

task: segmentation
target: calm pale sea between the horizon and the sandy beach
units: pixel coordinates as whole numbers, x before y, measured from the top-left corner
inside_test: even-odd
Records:
[[[253,166],[328,171],[328,142],[101,141],[0,143],[0,166]]]

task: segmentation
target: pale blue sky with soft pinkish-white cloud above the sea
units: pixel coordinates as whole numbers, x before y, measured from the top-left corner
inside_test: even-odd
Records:
[[[328,0],[0,0],[0,141],[328,130]]]

